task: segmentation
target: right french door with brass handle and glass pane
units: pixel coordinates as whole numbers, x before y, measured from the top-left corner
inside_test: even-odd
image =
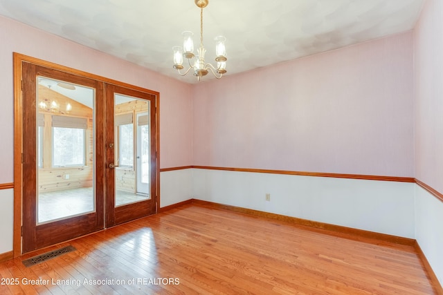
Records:
[[[106,88],[107,226],[155,213],[155,95]]]

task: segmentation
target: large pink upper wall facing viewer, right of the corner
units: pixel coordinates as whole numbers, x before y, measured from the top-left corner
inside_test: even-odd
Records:
[[[197,84],[193,164],[413,177],[413,34]]]

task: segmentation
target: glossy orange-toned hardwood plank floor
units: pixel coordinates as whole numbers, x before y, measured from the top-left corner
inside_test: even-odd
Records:
[[[77,250],[21,263],[66,245]],[[0,276],[0,294],[437,294],[411,246],[201,204],[9,260]]]

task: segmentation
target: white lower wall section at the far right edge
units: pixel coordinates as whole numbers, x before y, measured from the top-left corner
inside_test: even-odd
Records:
[[[415,185],[415,239],[443,286],[443,202]]]

